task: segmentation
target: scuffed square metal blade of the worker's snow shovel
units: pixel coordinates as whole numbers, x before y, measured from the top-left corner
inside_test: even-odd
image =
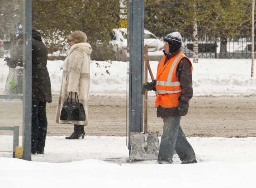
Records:
[[[130,160],[157,160],[159,139],[157,133],[130,133]]]

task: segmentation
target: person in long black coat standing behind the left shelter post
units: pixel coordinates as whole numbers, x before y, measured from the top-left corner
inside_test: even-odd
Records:
[[[17,29],[17,49],[12,58],[5,58],[7,66],[23,66],[22,25]],[[32,29],[32,101],[31,101],[31,153],[44,154],[47,132],[46,103],[51,103],[51,81],[46,67],[48,51],[39,31]],[[22,80],[19,79],[22,86]],[[22,87],[19,87],[22,93]]]

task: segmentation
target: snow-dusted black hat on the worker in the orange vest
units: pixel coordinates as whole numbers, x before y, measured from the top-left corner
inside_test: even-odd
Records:
[[[182,37],[179,32],[169,33],[164,37],[164,41],[169,44],[169,53],[176,52],[182,46]]]

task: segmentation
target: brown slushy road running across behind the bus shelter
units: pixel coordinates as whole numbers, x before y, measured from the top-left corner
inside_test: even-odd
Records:
[[[156,117],[155,97],[148,100],[148,129],[162,134],[162,119]],[[256,96],[193,97],[188,115],[181,118],[181,126],[189,137],[256,137]],[[22,102],[0,101],[0,125],[22,125]],[[47,104],[47,136],[63,136],[72,133],[72,125],[55,123],[57,95]],[[20,129],[20,133],[22,129]],[[90,96],[89,136],[126,136],[126,97]],[[0,135],[12,132],[1,131]]]

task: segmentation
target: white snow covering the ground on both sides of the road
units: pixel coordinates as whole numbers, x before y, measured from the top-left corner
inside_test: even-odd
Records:
[[[4,63],[0,59],[0,93],[8,73]],[[154,75],[157,63],[150,62]],[[48,61],[53,93],[60,89],[61,64]],[[104,68],[108,65],[110,75]],[[92,61],[90,94],[125,96],[126,68],[126,62]],[[199,63],[193,63],[194,96],[254,95],[256,79],[250,76],[250,59],[199,59]],[[20,137],[20,146],[21,141]],[[0,152],[0,187],[255,187],[256,138],[192,137],[188,141],[198,164],[180,165],[177,155],[173,165],[159,165],[157,161],[128,163],[126,137],[66,140],[65,136],[48,136],[45,155],[33,155],[32,162]],[[0,136],[0,143],[0,150],[11,150],[12,136]]]

